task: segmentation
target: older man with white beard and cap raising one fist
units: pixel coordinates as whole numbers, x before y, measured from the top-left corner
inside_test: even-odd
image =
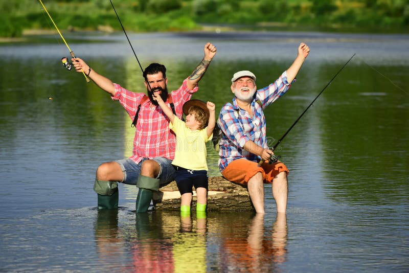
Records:
[[[264,213],[264,183],[272,183],[277,212],[287,209],[287,167],[280,161],[269,164],[273,151],[267,146],[263,109],[284,95],[309,54],[309,47],[300,43],[291,66],[268,86],[257,90],[256,76],[239,71],[232,78],[233,102],[220,110],[217,121],[221,131],[219,168],[224,178],[243,186],[257,213]],[[264,161],[262,164],[258,162]],[[260,166],[259,166],[260,165]]]

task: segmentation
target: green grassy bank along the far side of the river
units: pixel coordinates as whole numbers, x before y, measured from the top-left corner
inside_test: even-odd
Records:
[[[61,30],[121,30],[109,0],[43,0]],[[200,30],[202,25],[292,30],[407,32],[409,0],[112,0],[126,30]],[[0,36],[53,29],[39,1],[1,2]]]

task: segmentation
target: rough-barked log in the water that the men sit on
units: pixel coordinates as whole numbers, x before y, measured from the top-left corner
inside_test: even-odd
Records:
[[[153,194],[156,210],[180,210],[180,193],[172,181]],[[196,192],[193,191],[191,210],[196,210]],[[222,176],[209,177],[208,211],[252,211],[253,204],[247,188],[234,184]]]

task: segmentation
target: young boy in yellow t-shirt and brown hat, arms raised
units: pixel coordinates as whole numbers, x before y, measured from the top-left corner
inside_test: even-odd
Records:
[[[206,211],[208,192],[208,166],[206,163],[206,142],[213,137],[216,123],[215,105],[212,102],[190,100],[183,105],[186,122],[174,115],[160,96],[153,99],[168,116],[169,128],[176,134],[175,158],[172,165],[176,168],[175,180],[181,195],[180,212],[190,212],[192,187],[197,194],[196,212]]]

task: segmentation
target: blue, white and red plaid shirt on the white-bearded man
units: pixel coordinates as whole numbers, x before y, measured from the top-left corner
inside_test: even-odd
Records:
[[[291,83],[295,82],[294,79]],[[257,162],[259,156],[243,149],[247,141],[253,141],[257,145],[267,148],[265,117],[263,109],[284,95],[291,83],[287,82],[287,71],[268,86],[259,89],[251,102],[253,117],[237,105],[236,97],[233,103],[226,103],[220,110],[217,124],[220,128],[220,159],[219,168],[223,171],[229,163],[239,158],[247,158]],[[260,100],[261,105],[256,101]]]

